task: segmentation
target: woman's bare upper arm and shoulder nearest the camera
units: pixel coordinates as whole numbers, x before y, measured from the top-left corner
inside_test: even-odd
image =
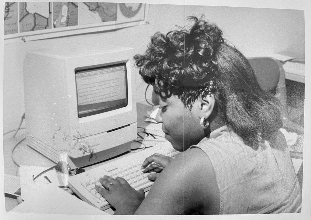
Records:
[[[211,161],[199,148],[176,157],[162,171],[135,214],[219,213],[219,190]]]

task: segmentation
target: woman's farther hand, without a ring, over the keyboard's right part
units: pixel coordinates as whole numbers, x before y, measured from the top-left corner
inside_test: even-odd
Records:
[[[161,172],[172,160],[172,157],[164,156],[159,153],[152,154],[142,163],[142,169],[144,169],[143,172],[148,173],[153,171],[148,174],[147,177],[150,180],[156,180],[156,178],[159,176],[159,172]],[[154,162],[154,164],[152,164],[152,162]]]

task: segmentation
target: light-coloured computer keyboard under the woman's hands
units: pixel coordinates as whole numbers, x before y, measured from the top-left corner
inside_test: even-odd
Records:
[[[104,211],[111,206],[95,189],[95,185],[101,185],[98,181],[104,175],[111,177],[123,177],[136,190],[143,188],[144,192],[149,191],[153,184],[147,178],[148,173],[143,173],[142,162],[154,153],[160,153],[169,157],[176,157],[179,152],[174,150],[169,142],[146,148],[143,151],[130,153],[107,164],[92,168],[83,173],[69,177],[68,185],[83,201]],[[155,168],[156,166],[153,165]],[[163,169],[163,167],[158,167]]]

